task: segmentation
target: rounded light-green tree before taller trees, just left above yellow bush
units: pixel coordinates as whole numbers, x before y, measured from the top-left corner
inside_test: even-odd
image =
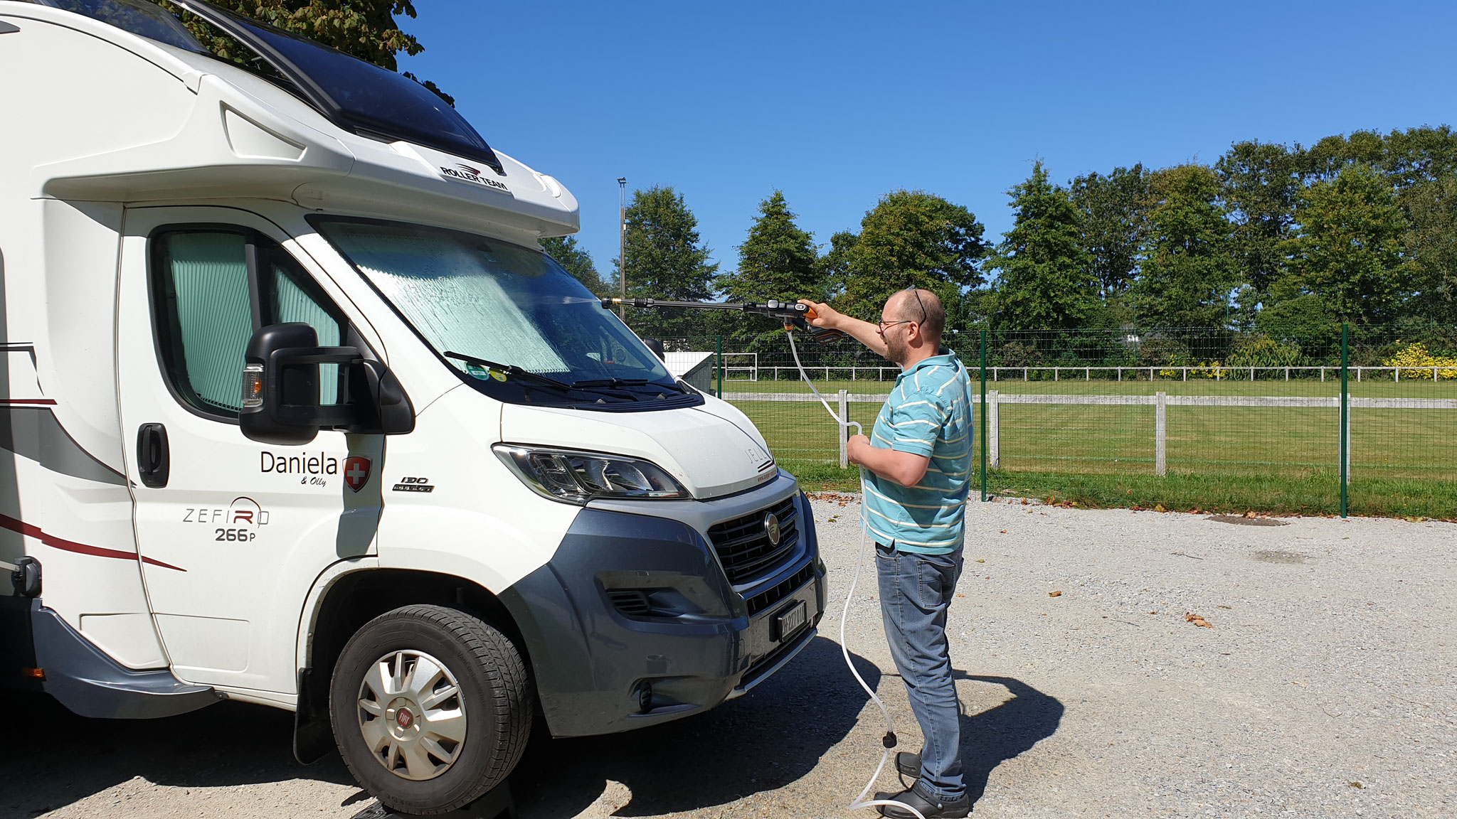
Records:
[[[1407,220],[1390,182],[1370,165],[1348,165],[1300,194],[1295,219],[1300,233],[1285,243],[1288,274],[1275,294],[1317,296],[1338,321],[1394,318],[1415,271],[1402,258]]]

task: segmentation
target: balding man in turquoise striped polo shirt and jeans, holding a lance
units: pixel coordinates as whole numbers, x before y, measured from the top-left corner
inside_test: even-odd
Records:
[[[946,309],[930,290],[896,293],[873,325],[825,305],[816,326],[839,329],[900,366],[871,436],[849,439],[851,463],[865,468],[863,525],[876,541],[880,611],[890,656],[921,723],[921,753],[896,753],[916,783],[876,794],[915,807],[925,819],[970,813],[962,778],[960,704],[951,682],[946,612],[962,573],[966,491],[972,466],[970,380],[941,347]],[[887,804],[880,813],[914,819]]]

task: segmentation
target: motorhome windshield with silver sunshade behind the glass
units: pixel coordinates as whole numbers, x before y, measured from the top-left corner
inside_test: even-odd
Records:
[[[439,356],[503,401],[644,410],[701,401],[539,251],[417,224],[310,222]]]

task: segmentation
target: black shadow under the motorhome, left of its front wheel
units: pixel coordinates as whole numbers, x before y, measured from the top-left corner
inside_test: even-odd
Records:
[[[160,720],[77,717],[45,695],[10,700],[26,726],[4,755],[0,816],[35,816],[143,777],[176,787],[294,778],[353,783],[338,755],[305,768],[293,758],[293,714],[219,702]]]

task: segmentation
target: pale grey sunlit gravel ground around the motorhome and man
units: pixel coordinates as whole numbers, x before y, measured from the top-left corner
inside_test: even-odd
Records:
[[[814,509],[822,637],[708,714],[533,742],[511,778],[523,819],[851,816],[883,733],[832,640],[860,529],[854,498]],[[973,504],[950,634],[975,816],[1457,816],[1457,525],[1273,523]],[[918,748],[873,584],[848,640]],[[3,816],[373,812],[337,758],[293,762],[291,714],[16,705],[41,730],[9,743]]]

